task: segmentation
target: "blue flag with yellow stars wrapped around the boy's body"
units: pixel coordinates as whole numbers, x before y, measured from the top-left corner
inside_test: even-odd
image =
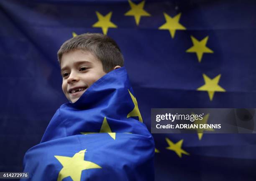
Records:
[[[137,107],[125,68],[111,71],[61,105],[24,172],[31,181],[154,180],[154,140]]]

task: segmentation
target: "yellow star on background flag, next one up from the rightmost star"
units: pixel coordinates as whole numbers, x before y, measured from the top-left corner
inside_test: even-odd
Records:
[[[187,49],[187,53],[196,53],[199,62],[202,60],[204,53],[213,54],[213,51],[206,46],[209,36],[206,36],[201,41],[198,41],[194,36],[191,36],[193,46]]]

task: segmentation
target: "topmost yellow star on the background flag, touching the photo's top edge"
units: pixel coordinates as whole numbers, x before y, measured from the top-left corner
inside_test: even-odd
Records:
[[[131,0],[128,0],[128,2],[131,6],[131,10],[125,13],[125,16],[134,16],[137,26],[140,23],[141,16],[151,16],[149,13],[143,10],[143,7],[145,5],[145,0],[143,0],[138,5],[133,3]]]

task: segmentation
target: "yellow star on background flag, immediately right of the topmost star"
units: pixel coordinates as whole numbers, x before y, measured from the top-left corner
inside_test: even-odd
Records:
[[[186,30],[186,28],[179,23],[180,16],[181,16],[181,13],[177,14],[176,16],[174,16],[174,18],[172,18],[171,16],[164,13],[164,18],[166,20],[166,23],[161,25],[158,29],[159,30],[169,30],[172,38],[174,38],[176,30]]]

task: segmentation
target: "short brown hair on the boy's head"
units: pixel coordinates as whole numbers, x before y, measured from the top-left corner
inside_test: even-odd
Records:
[[[105,72],[124,64],[123,55],[117,43],[112,38],[100,33],[84,33],[65,41],[57,53],[59,64],[61,64],[63,54],[78,49],[94,54],[101,61]]]

